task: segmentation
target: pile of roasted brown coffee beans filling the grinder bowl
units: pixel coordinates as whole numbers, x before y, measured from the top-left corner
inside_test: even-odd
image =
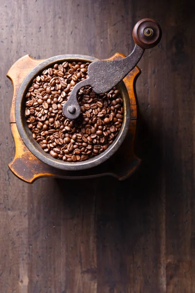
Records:
[[[87,78],[88,65],[55,64],[33,80],[26,94],[25,117],[33,138],[46,153],[66,162],[84,161],[106,150],[123,122],[123,100],[116,87],[101,95],[82,87],[80,117],[64,117],[62,106],[75,84]]]

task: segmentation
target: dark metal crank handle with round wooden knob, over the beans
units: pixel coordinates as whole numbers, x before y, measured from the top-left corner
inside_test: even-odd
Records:
[[[161,39],[161,28],[152,19],[142,19],[133,29],[136,43],[132,53],[126,58],[111,61],[96,61],[88,66],[88,78],[76,84],[63,105],[63,115],[71,120],[80,115],[77,94],[81,87],[90,85],[97,94],[108,92],[137,65],[145,49],[155,47]]]

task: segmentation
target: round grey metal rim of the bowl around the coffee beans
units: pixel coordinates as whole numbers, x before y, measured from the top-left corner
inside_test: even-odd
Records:
[[[48,67],[49,64],[52,63],[58,63],[58,62],[64,62],[64,61],[80,61],[80,62],[94,62],[98,61],[97,58],[86,56],[86,55],[78,55],[78,54],[71,54],[71,55],[59,55],[54,56],[49,59],[46,59],[45,61],[39,63],[36,67],[34,67],[28,75],[24,78],[23,82],[20,85],[17,97],[16,97],[16,107],[15,107],[15,116],[16,116],[16,124],[17,128],[20,134],[20,137],[27,146],[27,148],[31,151],[33,155],[35,155],[40,161],[42,161],[45,164],[48,164],[51,167],[59,168],[62,170],[83,170],[91,167],[98,166],[99,164],[103,163],[107,159],[109,159],[121,146],[122,142],[124,141],[130,124],[130,102],[129,102],[129,96],[126,89],[126,86],[123,82],[120,82],[118,84],[118,87],[121,91],[122,98],[123,98],[123,105],[124,105],[124,117],[123,117],[123,124],[122,127],[114,140],[114,142],[101,154],[90,158],[86,161],[81,162],[64,162],[62,160],[57,160],[55,158],[52,158],[52,156],[48,153],[45,153],[44,150],[39,146],[39,144],[32,138],[32,141],[30,140],[30,134],[32,132],[29,130],[29,135],[27,135],[27,131],[25,130],[23,119],[24,119],[24,113],[22,112],[22,101],[25,99],[24,94],[26,93],[26,90],[29,86],[29,84],[32,82],[34,77],[45,67]],[[26,122],[24,122],[26,123]],[[27,124],[26,124],[27,127]],[[28,130],[28,129],[27,129]]]

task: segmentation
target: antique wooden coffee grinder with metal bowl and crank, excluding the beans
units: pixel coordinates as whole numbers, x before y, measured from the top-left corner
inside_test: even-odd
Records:
[[[136,65],[144,50],[156,46],[160,41],[160,26],[152,19],[138,21],[133,29],[133,39],[136,45],[127,57],[116,53],[103,61],[84,55],[60,55],[35,60],[26,55],[12,65],[7,76],[14,87],[10,126],[16,151],[9,167],[16,176],[28,183],[49,176],[77,179],[112,175],[123,180],[137,169],[140,159],[134,153],[137,127],[135,82],[140,70]],[[85,161],[64,162],[45,153],[33,139],[25,121],[25,97],[30,84],[39,72],[64,61],[90,63],[88,78],[72,88],[69,99],[63,105],[65,118],[76,120],[80,116],[77,95],[84,86],[91,86],[97,94],[109,92],[117,86],[123,99],[124,118],[117,137],[105,151]]]

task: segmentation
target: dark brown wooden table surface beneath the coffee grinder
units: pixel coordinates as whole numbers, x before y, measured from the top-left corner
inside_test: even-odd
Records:
[[[0,0],[0,293],[195,292],[194,11],[184,0]],[[124,182],[16,178],[10,66],[129,54],[145,17],[163,37],[139,63],[139,170]]]

